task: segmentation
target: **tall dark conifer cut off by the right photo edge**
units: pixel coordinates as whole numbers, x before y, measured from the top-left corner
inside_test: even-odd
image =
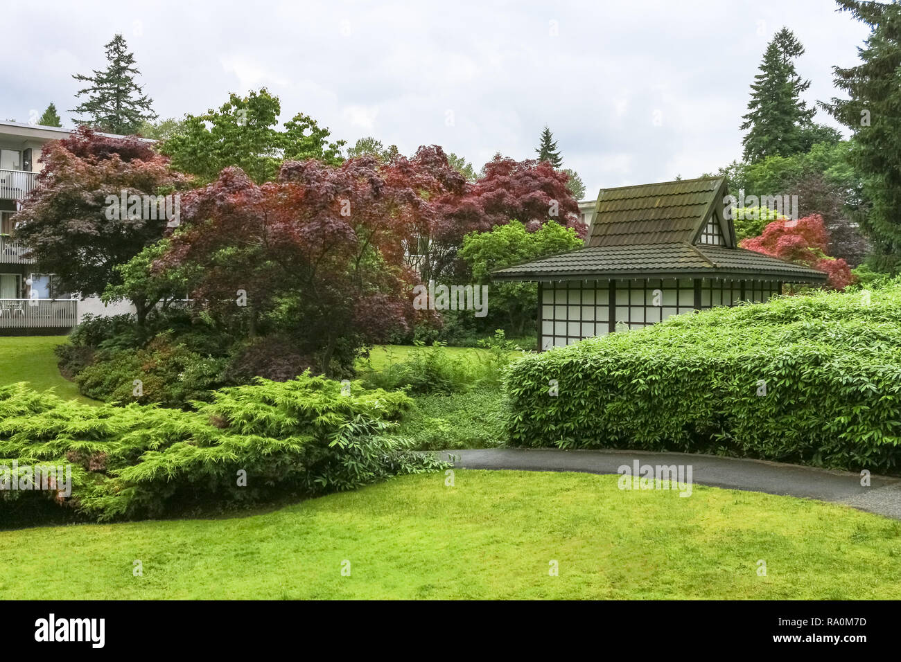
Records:
[[[861,219],[873,242],[868,262],[901,271],[901,4],[838,0],[842,11],[869,25],[856,67],[833,67],[834,85],[850,98],[820,104],[853,131],[851,165],[871,202]]]

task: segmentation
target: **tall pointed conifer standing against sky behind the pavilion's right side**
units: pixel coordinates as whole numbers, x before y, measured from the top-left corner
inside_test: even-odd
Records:
[[[742,131],[750,130],[742,140],[746,161],[790,156],[804,149],[805,130],[816,110],[801,100],[801,93],[810,86],[795,68],[795,59],[803,54],[804,46],[787,28],[764,51],[760,73],[751,84],[748,114],[742,117]]]

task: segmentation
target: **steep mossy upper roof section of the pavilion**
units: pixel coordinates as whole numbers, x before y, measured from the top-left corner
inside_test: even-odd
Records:
[[[724,195],[723,177],[602,189],[586,245],[690,243]]]

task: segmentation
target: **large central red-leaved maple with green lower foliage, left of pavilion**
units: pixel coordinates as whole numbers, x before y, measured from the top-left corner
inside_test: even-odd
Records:
[[[412,322],[401,238],[418,197],[405,183],[371,157],[290,161],[261,186],[226,168],[183,196],[182,227],[156,268],[200,267],[193,296],[214,316],[287,334],[318,369],[340,374]]]

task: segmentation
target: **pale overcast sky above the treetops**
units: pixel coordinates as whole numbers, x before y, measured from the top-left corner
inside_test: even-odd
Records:
[[[54,102],[71,125],[77,81],[121,32],[160,117],[268,87],[282,121],[310,114],[352,144],[437,143],[478,169],[535,156],[551,127],[594,197],[713,171],[742,152],[741,116],[767,42],[805,45],[807,100],[866,28],[831,0],[607,2],[12,2],[3,7],[0,118]],[[834,124],[824,113],[817,120]]]

